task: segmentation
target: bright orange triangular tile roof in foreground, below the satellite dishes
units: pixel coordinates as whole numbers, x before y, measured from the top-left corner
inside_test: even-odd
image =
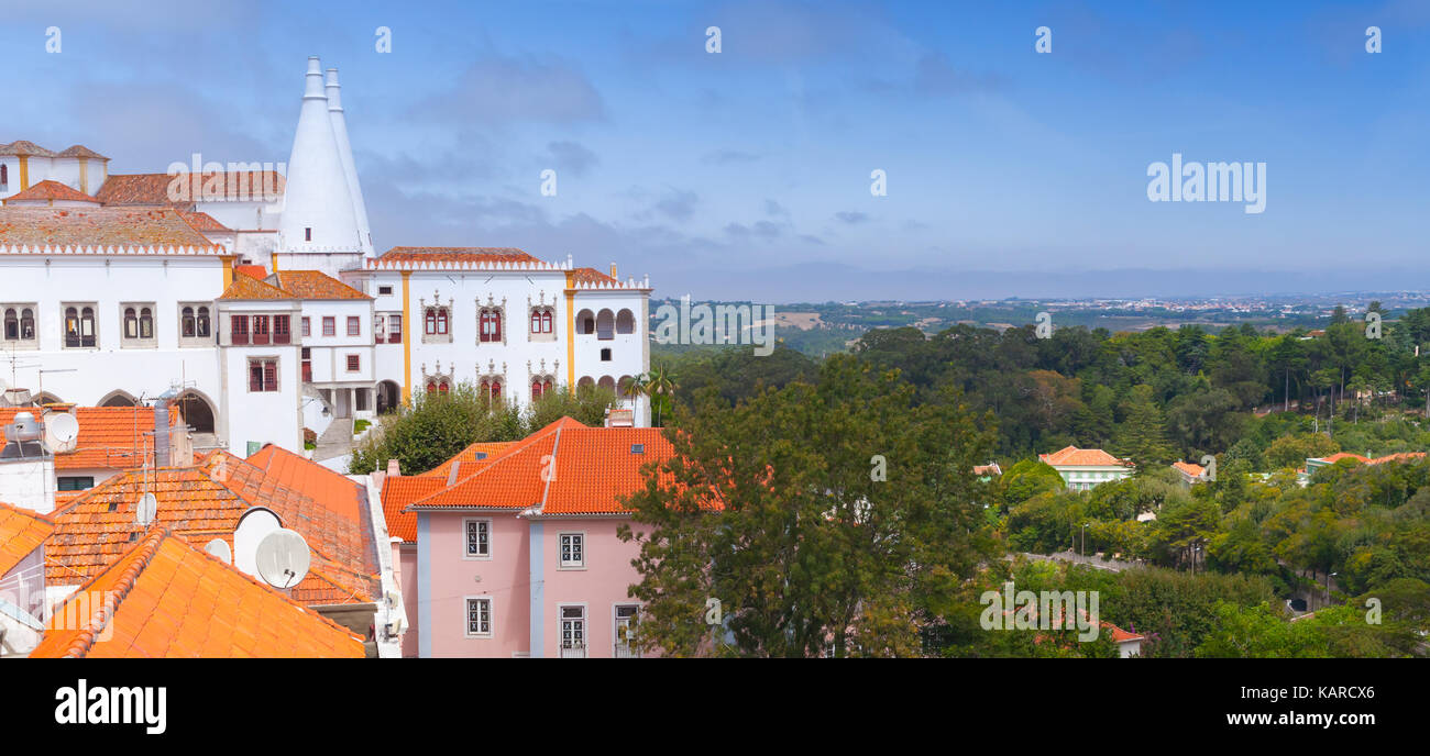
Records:
[[[66,617],[90,606],[80,627],[66,626]],[[160,527],[57,607],[30,653],[37,659],[365,655],[362,639],[345,627]]]

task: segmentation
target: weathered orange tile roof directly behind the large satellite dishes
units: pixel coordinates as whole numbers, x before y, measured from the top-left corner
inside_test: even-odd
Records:
[[[305,463],[313,474],[312,467],[322,467]],[[147,490],[159,499],[156,522],[200,547],[216,537],[232,547],[243,513],[267,507],[313,552],[312,570],[292,592],[295,600],[373,600],[379,586],[370,520],[355,516],[358,507],[342,496],[315,499],[285,484],[280,479],[300,477],[285,467],[286,462],[276,462],[265,469],[214,450],[190,467],[127,470],[110,477],[56,512],[56,529],[46,543],[46,577],[53,585],[73,585],[123,552],[139,532],[134,504]],[[305,487],[320,494],[337,490],[322,480]]]

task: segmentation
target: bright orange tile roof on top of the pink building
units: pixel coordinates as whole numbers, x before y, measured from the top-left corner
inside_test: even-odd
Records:
[[[642,444],[642,453],[632,452],[635,444]],[[626,512],[618,497],[645,486],[641,469],[671,454],[674,447],[661,429],[588,427],[562,417],[405,510],[539,507],[542,514],[616,514]]]

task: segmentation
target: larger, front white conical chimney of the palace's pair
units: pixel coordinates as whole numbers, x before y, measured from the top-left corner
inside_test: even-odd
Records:
[[[327,114],[323,70],[316,56],[307,59],[303,107],[297,113],[293,154],[287,160],[279,237],[280,254],[362,252],[347,174]]]

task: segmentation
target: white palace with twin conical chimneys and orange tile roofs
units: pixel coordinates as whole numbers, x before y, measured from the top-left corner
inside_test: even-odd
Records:
[[[82,146],[0,143],[0,404],[173,400],[196,449],[302,453],[303,427],[459,382],[521,403],[649,367],[649,282],[613,264],[376,254],[337,71],[316,57],[286,174],[107,166]],[[646,424],[645,400],[633,409]]]

